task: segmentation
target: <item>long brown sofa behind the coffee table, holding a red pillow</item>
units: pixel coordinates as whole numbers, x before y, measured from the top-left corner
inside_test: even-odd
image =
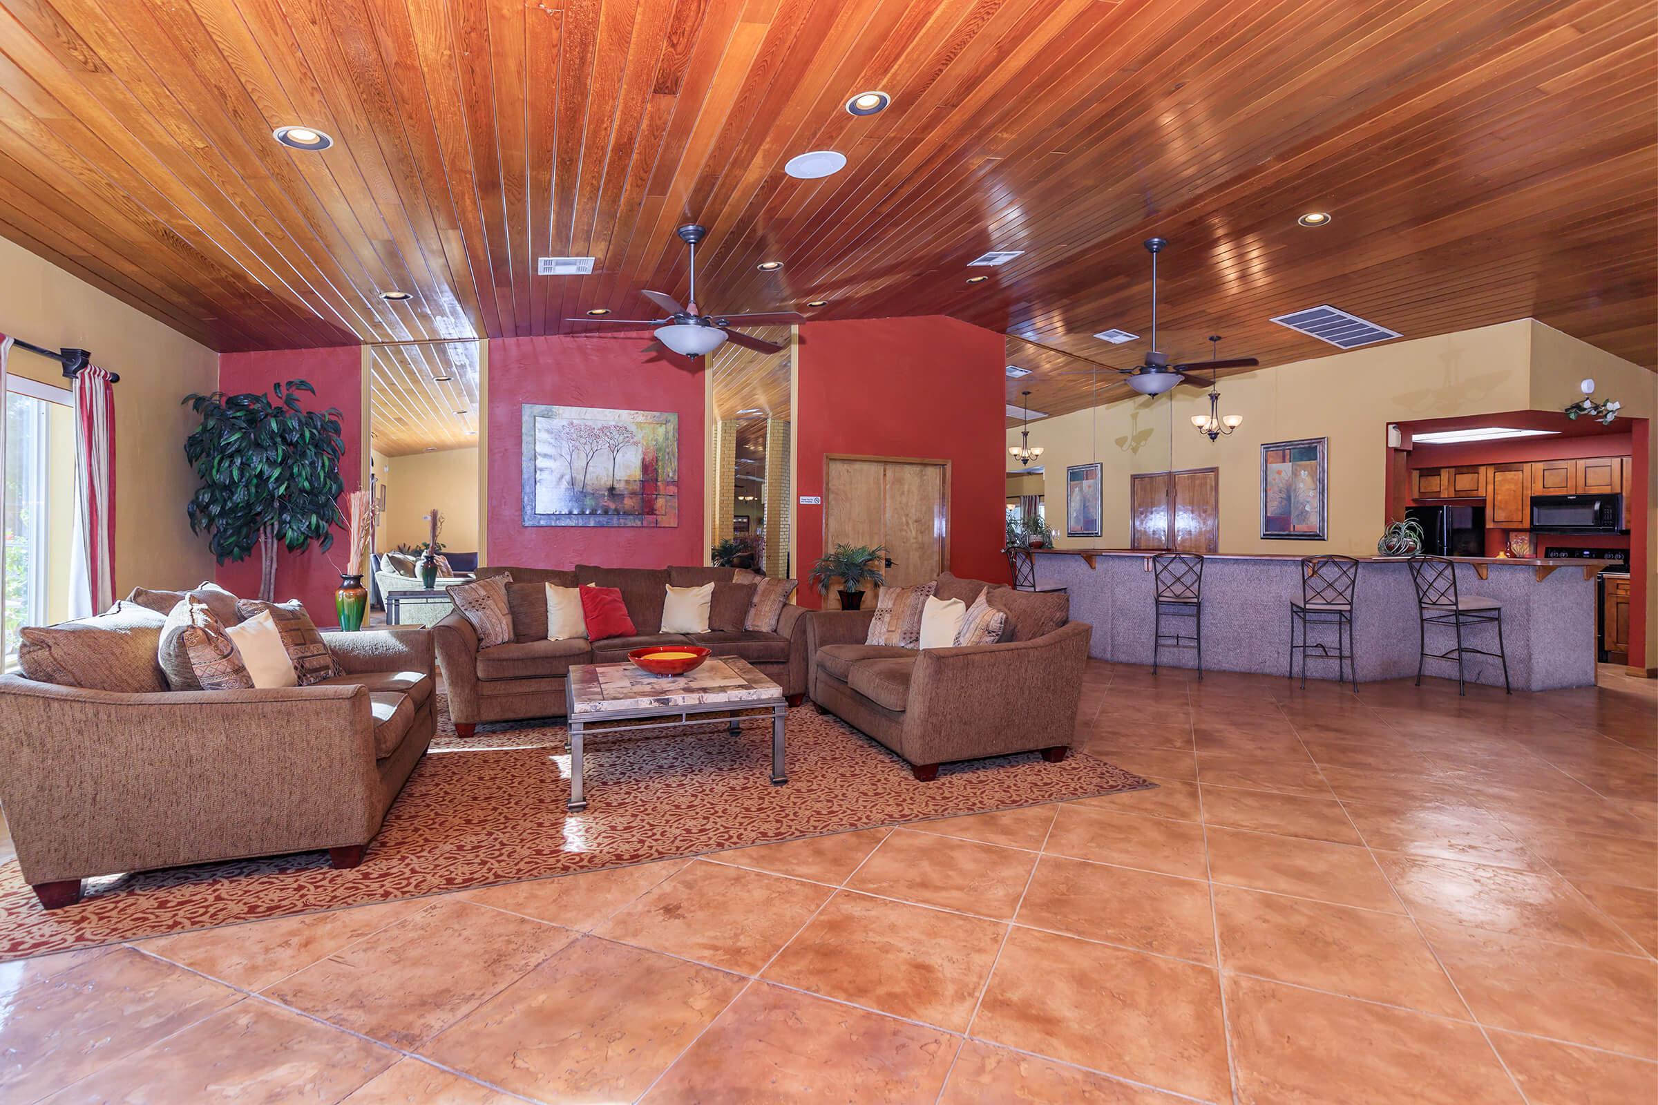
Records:
[[[806,611],[789,603],[783,608],[776,633],[726,630],[713,633],[662,633],[662,606],[667,588],[730,583],[734,568],[600,568],[577,565],[562,568],[479,568],[479,578],[511,573],[507,605],[512,608],[512,641],[478,648],[478,633],[461,613],[451,613],[436,626],[438,668],[454,731],[471,736],[482,722],[519,721],[524,717],[562,717],[565,709],[564,678],[575,664],[627,663],[628,649],[647,644],[701,644],[718,656],[741,656],[761,674],[783,688],[791,704],[806,692]],[[612,636],[599,641],[549,641],[545,583],[557,586],[615,586],[622,591],[637,636]]]

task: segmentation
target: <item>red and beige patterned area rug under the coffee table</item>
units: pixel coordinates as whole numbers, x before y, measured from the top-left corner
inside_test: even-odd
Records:
[[[463,741],[438,701],[438,739],[361,866],[337,871],[325,852],[302,852],[119,875],[88,880],[81,903],[48,913],[5,863],[0,961],[1154,785],[1083,754],[947,765],[920,784],[902,759],[804,706],[788,717],[788,785],[769,782],[769,721],[734,741],[725,729],[590,734],[589,807],[567,813],[564,726],[489,726]]]

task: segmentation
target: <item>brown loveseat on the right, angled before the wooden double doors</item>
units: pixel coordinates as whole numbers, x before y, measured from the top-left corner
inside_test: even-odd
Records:
[[[922,782],[952,760],[1033,750],[1064,759],[1093,630],[1068,621],[1064,591],[1015,591],[947,572],[935,593],[972,605],[987,586],[990,605],[1008,615],[996,644],[864,644],[872,610],[811,613],[812,704],[902,755]]]

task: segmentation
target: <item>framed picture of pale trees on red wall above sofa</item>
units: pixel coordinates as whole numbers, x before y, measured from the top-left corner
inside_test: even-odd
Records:
[[[680,524],[680,416],[541,406],[524,411],[524,525]]]

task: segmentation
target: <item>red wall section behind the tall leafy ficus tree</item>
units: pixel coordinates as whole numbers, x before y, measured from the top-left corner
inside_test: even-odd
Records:
[[[262,353],[224,353],[219,356],[219,389],[230,394],[244,391],[270,393],[275,383],[308,379],[317,396],[307,396],[307,406],[338,408],[345,461],[342,479],[345,490],[360,484],[358,456],[363,447],[363,350],[361,346],[335,346],[330,350],[272,350]],[[207,540],[202,537],[201,540]],[[335,530],[335,547],[328,553],[312,543],[300,555],[287,550],[277,553],[277,601],[298,598],[305,611],[320,626],[340,625],[333,608],[333,591],[340,586],[340,572],[328,557],[345,563],[345,530]],[[214,573],[219,586],[244,598],[259,593],[259,553],[247,560],[219,565]]]

